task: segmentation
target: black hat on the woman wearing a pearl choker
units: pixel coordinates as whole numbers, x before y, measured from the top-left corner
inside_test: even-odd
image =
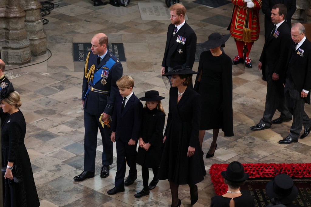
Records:
[[[221,172],[222,177],[227,181],[233,183],[239,183],[246,181],[249,177],[247,173],[244,173],[244,167],[241,163],[234,161],[229,163],[227,170]]]

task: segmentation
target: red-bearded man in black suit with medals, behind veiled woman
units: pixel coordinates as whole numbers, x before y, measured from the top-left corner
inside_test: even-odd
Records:
[[[197,35],[185,21],[186,8],[177,3],[170,6],[169,10],[172,24],[167,30],[161,74],[179,65],[192,68],[197,49]]]

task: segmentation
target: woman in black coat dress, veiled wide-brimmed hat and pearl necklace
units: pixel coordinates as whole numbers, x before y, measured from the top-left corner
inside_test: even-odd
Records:
[[[188,87],[192,83],[192,71],[186,66],[176,66],[163,76],[172,76],[169,90],[169,113],[165,129],[158,178],[169,181],[172,207],[180,206],[179,185],[188,184],[191,205],[198,200],[197,186],[206,175],[198,139],[201,102],[200,94]]]

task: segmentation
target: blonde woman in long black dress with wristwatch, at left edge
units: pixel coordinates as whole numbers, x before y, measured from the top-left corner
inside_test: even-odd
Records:
[[[21,96],[12,83],[0,90],[1,107],[7,118],[1,127],[4,207],[38,207],[40,205],[26,146],[26,122],[19,110]]]

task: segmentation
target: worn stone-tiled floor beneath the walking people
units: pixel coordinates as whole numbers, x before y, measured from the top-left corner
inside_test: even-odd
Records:
[[[139,2],[164,2],[164,0],[132,0],[128,7],[111,5],[93,7],[91,0],[55,0],[60,7],[45,18],[49,54],[33,58],[29,67],[8,66],[6,76],[21,94],[21,111],[27,122],[25,144],[30,155],[35,183],[41,206],[170,206],[170,191],[167,181],[160,181],[150,195],[134,197],[142,189],[141,171],[132,186],[125,192],[107,195],[114,186],[116,163],[106,179],[100,178],[100,154],[102,141],[98,136],[95,177],[83,182],[74,182],[73,177],[83,170],[84,123],[81,105],[83,62],[73,62],[73,43],[90,42],[94,34],[103,32],[109,42],[123,43],[126,62],[123,74],[134,78],[134,93],[144,96],[147,90],[158,90],[165,96],[164,108],[168,112],[169,95],[160,77],[160,68],[165,48],[169,20],[142,20]],[[187,8],[187,23],[197,34],[197,42],[204,42],[212,32],[228,33],[232,4],[230,1],[181,0]],[[215,2],[219,2],[218,4]],[[71,6],[70,8],[68,6]],[[66,7],[67,6],[67,7]],[[73,9],[72,9],[73,8]],[[117,15],[117,16],[114,16]],[[263,15],[261,13],[261,22]],[[250,58],[253,69],[243,70],[242,65],[233,66],[233,120],[234,136],[224,137],[220,132],[215,156],[204,158],[208,172],[213,163],[307,163],[311,160],[310,138],[290,145],[277,141],[289,133],[291,122],[272,125],[264,131],[251,131],[262,117],[266,82],[261,79],[257,63],[264,37],[263,23],[260,38],[253,45]],[[225,52],[237,55],[234,39],[226,43]],[[29,64],[29,65],[30,65]],[[197,70],[198,62],[193,69]],[[311,115],[310,106],[305,107]],[[279,116],[276,113],[275,118]],[[203,142],[206,153],[211,143],[212,132],[208,130]],[[115,151],[114,151],[115,152]],[[116,156],[116,153],[114,153]],[[137,167],[140,170],[139,166]],[[151,172],[150,172],[151,173]],[[152,176],[150,176],[152,179]],[[209,206],[215,195],[209,175],[198,183],[199,200],[194,206]],[[188,186],[180,186],[182,206],[190,206]]]

